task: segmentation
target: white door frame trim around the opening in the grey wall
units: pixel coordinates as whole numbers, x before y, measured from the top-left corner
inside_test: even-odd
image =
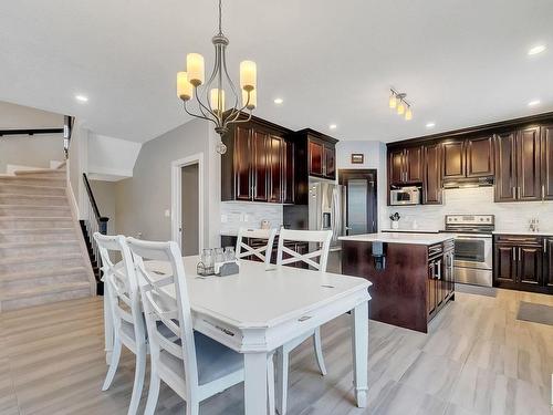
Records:
[[[182,250],[182,167],[198,165],[198,249],[204,248],[204,153],[171,162],[171,240]]]

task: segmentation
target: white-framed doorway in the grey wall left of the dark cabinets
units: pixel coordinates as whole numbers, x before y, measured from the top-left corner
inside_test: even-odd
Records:
[[[204,246],[204,155],[173,162],[173,240],[184,257],[199,255]]]

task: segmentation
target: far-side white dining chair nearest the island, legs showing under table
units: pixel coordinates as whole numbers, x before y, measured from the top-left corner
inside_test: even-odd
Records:
[[[304,262],[321,272],[326,271],[328,262],[328,249],[331,247],[332,231],[331,230],[290,230],[281,229],[279,236],[279,246],[276,251],[276,264],[286,266],[298,262]],[[286,247],[286,242],[307,242],[316,245],[319,249],[311,252],[300,253]],[[284,258],[286,255],[286,258]],[[316,362],[321,374],[326,375],[324,364],[323,349],[321,341],[321,329],[311,330],[296,339],[288,342],[276,351],[276,411],[280,415],[286,414],[288,402],[288,372],[290,364],[290,353],[302,344],[309,338],[313,339]]]

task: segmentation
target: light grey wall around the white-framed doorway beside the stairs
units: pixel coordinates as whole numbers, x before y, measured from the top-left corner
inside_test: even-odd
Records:
[[[171,239],[171,162],[204,153],[204,245],[219,246],[220,155],[212,125],[195,120],[145,143],[133,177],[116,183],[116,230],[144,239]]]

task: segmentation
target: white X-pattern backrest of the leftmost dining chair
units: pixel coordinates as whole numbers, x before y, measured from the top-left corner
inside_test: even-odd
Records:
[[[113,326],[121,334],[124,343],[146,343],[146,329],[142,313],[140,292],[131,251],[125,237],[105,236],[94,232],[98,246],[104,274],[104,295],[108,297]],[[109,252],[118,252],[122,261],[114,264]],[[122,326],[132,324],[134,338],[127,335]]]

